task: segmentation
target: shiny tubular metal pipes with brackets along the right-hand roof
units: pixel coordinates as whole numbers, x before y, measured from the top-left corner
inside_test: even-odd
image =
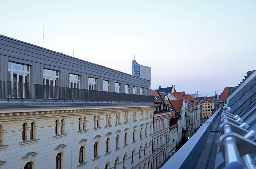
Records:
[[[223,106],[224,112],[221,114],[221,136],[219,145],[221,153],[225,159],[226,168],[253,169],[256,167],[252,156],[256,152],[256,132],[246,129],[249,125],[237,116],[230,114],[230,107]]]

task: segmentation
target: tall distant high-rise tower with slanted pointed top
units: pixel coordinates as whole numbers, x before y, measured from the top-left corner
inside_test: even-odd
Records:
[[[132,75],[142,79],[149,80],[149,88],[151,86],[151,67],[138,64],[132,60]]]

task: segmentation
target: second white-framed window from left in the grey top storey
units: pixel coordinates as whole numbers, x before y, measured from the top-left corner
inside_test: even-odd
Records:
[[[47,86],[58,86],[58,75],[57,70],[44,69],[43,84]]]

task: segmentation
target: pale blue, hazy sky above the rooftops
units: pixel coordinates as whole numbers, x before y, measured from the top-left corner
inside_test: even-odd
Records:
[[[256,69],[256,1],[3,1],[0,34],[213,96]]]

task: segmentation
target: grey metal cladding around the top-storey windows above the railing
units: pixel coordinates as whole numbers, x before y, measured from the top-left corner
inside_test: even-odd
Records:
[[[8,81],[8,62],[30,65],[30,83],[34,84],[43,84],[43,70],[47,68],[59,71],[58,86],[61,87],[69,87],[71,73],[80,75],[80,89],[88,89],[88,77],[92,77],[97,79],[99,91],[103,91],[103,80],[108,80],[110,92],[115,92],[115,82],[118,82],[120,93],[125,93],[125,84],[129,84],[129,94],[133,86],[137,86],[137,94],[140,87],[144,88],[143,95],[149,94],[149,80],[0,35],[1,81]]]

